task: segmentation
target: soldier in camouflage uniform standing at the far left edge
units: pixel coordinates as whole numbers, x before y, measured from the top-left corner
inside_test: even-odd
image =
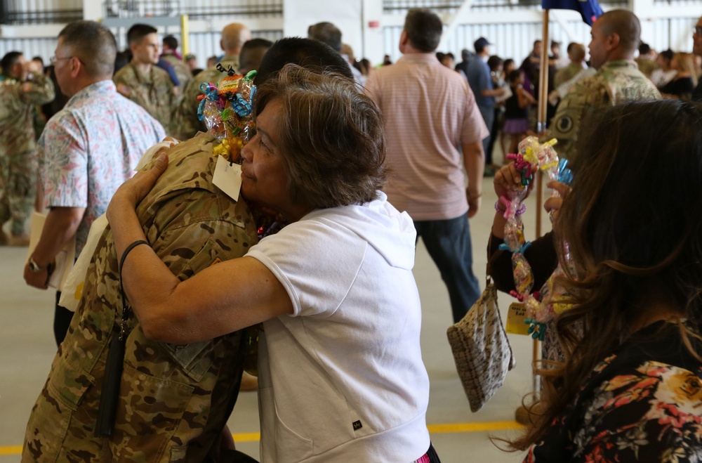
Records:
[[[11,244],[27,244],[25,223],[37,191],[34,108],[53,100],[51,79],[18,51],[2,59],[0,75],[0,241],[11,220]],[[29,79],[29,74],[32,78]]]

